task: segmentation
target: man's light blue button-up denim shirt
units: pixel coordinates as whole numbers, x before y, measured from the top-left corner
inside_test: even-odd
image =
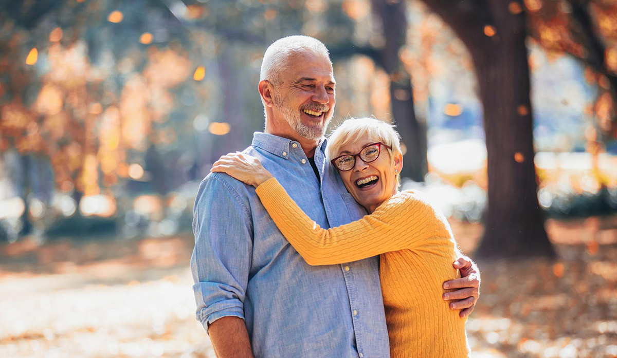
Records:
[[[300,144],[255,132],[253,155],[321,227],[366,214],[315,150],[320,181]],[[389,357],[378,258],[309,266],[278,230],[252,186],[211,173],[194,206],[191,271],[197,320],[204,328],[244,319],[262,357]]]

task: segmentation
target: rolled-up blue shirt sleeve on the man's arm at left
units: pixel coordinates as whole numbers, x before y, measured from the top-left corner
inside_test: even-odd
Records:
[[[221,317],[244,319],[251,267],[251,211],[224,174],[210,174],[195,199],[191,256],[196,318],[205,330]]]

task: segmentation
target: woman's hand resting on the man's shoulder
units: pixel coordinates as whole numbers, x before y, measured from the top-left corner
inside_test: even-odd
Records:
[[[218,158],[210,171],[229,174],[244,184],[254,187],[258,187],[259,184],[272,177],[272,174],[263,168],[259,159],[240,152],[229,153]]]

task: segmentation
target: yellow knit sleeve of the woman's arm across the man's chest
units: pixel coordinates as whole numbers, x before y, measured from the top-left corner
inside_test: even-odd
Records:
[[[284,237],[310,265],[340,264],[389,251],[413,249],[429,237],[451,237],[444,216],[412,192],[402,192],[372,214],[349,224],[321,229],[275,178],[257,195]]]

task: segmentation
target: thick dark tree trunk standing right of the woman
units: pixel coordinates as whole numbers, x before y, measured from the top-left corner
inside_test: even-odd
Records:
[[[465,43],[478,76],[489,190],[476,254],[554,257],[537,200],[524,12],[510,14],[508,0],[425,2]]]

